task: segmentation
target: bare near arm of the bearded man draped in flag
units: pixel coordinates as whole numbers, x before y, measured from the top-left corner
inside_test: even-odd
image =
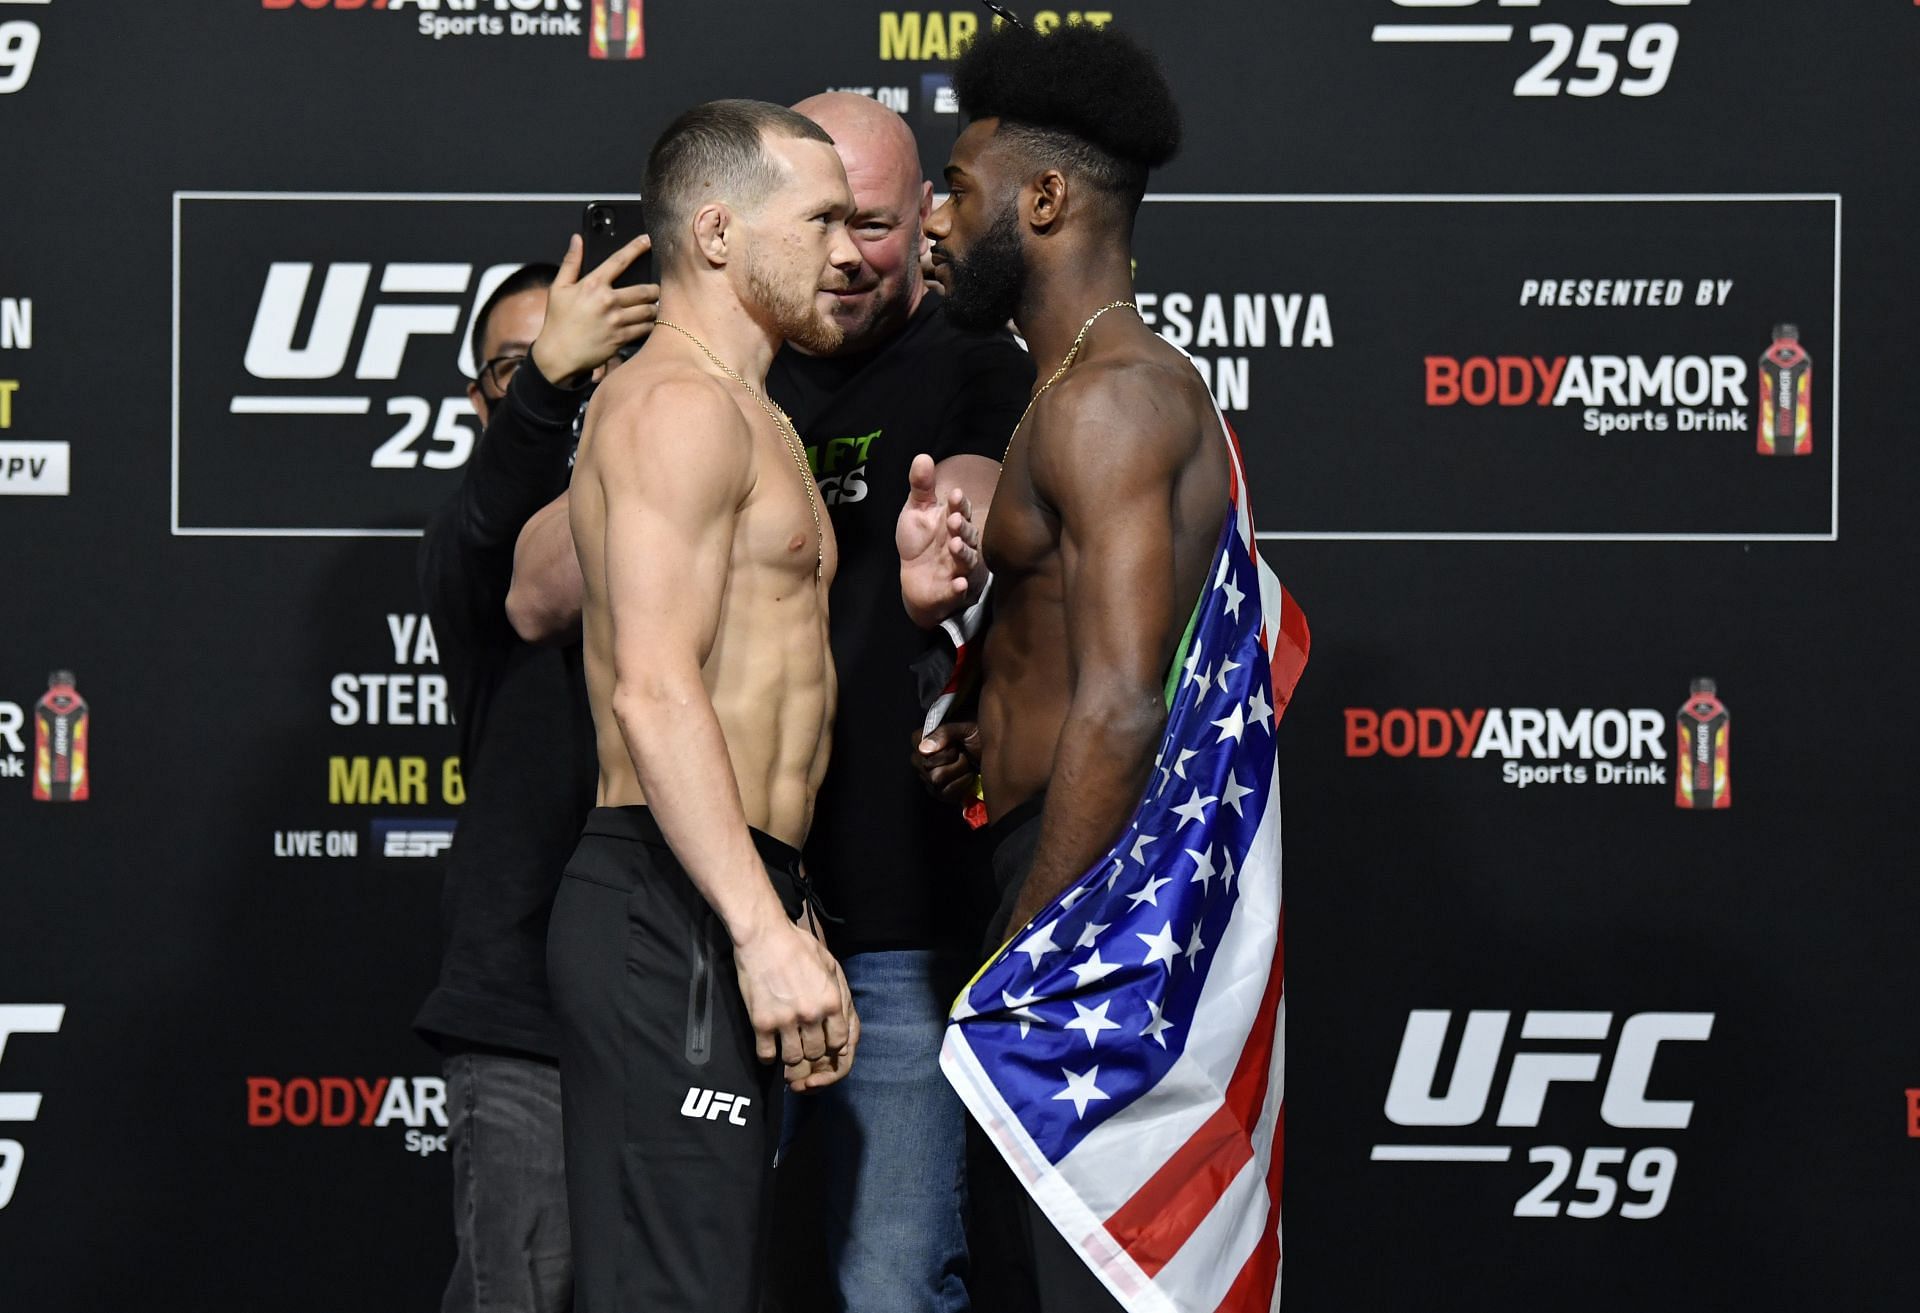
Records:
[[[1119,837],[1165,729],[1175,616],[1173,478],[1187,420],[1125,369],[1089,369],[1052,401],[1033,486],[1060,514],[1068,718],[1018,931]]]

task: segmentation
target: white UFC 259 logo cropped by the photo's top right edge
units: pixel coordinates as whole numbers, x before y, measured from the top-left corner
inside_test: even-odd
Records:
[[[1551,0],[1548,0],[1551,2]],[[1686,8],[1692,0],[1613,0],[1622,10]],[[1421,23],[1379,23],[1375,42],[1469,44],[1511,42],[1513,23],[1482,23],[1488,12],[1542,8],[1542,0],[1394,0],[1400,10],[1428,15]],[[1476,10],[1467,13],[1467,10]],[[1402,17],[1413,17],[1404,13]],[[1620,17],[1626,17],[1624,13]],[[1455,21],[1473,19],[1473,21]],[[1546,52],[1513,83],[1515,96],[1659,96],[1674,71],[1680,29],[1672,23],[1532,23],[1524,36]]]

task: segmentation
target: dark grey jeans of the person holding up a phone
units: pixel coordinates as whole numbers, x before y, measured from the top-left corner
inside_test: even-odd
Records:
[[[561,1159],[561,1069],[455,1054],[447,1079],[453,1238],[442,1313],[566,1313],[574,1255]]]

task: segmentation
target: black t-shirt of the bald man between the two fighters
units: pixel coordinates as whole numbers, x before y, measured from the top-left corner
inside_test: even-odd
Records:
[[[922,722],[910,664],[929,637],[900,605],[893,524],[918,453],[1000,459],[1033,392],[1033,361],[1004,330],[956,328],[929,292],[874,351],[783,349],[766,388],[801,430],[839,537],[839,714],[806,841],[808,875],[843,919],[831,946],[972,950],[983,923],[975,835],[927,797],[908,760]]]

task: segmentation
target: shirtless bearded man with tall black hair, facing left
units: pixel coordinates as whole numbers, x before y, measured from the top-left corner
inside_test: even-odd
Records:
[[[1148,169],[1179,146],[1152,56],[1116,29],[1043,36],[1006,23],[966,50],[954,92],[972,123],[927,221],[935,276],[962,322],[1012,317],[1041,386],[1000,465],[985,561],[962,497],[935,501],[925,457],[899,547],[922,622],[993,572],[977,768],[1002,895],[996,948],[1106,854],[1146,789],[1229,472],[1206,382],[1133,307],[1133,219]],[[933,783],[972,777],[968,729],[922,743]],[[1119,1307],[1027,1207],[1043,1313]]]

